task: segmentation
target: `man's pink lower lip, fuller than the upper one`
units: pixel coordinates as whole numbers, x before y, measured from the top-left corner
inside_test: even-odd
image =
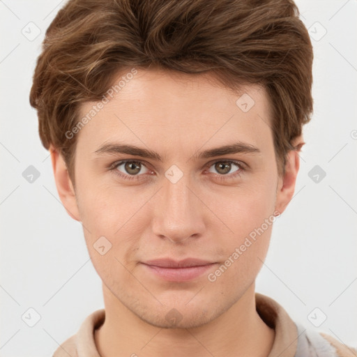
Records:
[[[170,282],[185,282],[198,278],[214,265],[215,264],[190,266],[188,268],[163,268],[162,266],[144,264],[146,268],[149,268],[149,271]]]

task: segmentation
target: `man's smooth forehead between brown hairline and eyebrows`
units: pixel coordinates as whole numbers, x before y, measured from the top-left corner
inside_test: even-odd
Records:
[[[79,132],[92,147],[123,138],[177,149],[208,142],[214,146],[226,139],[261,146],[264,138],[271,139],[270,105],[258,85],[241,86],[234,93],[209,74],[137,70],[116,76],[107,93],[107,103]],[[84,103],[81,116],[97,103]]]

